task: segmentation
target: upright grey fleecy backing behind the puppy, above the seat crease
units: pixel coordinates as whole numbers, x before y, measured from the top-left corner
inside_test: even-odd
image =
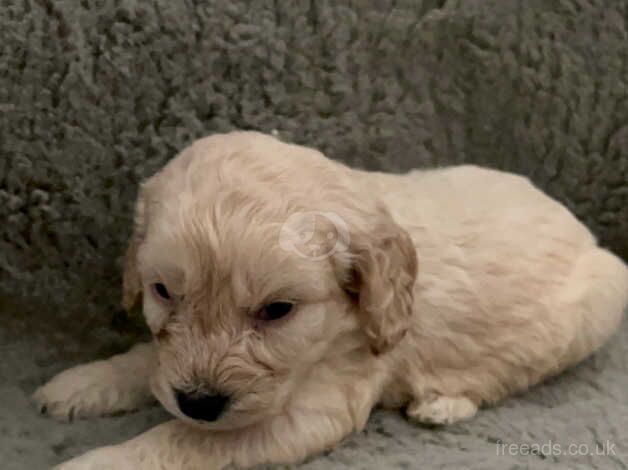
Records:
[[[0,54],[2,302],[106,323],[138,182],[233,128],[524,173],[628,256],[625,1],[10,1]]]

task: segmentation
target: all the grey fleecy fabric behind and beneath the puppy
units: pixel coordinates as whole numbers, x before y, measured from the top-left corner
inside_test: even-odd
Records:
[[[3,1],[3,468],[44,468],[164,418],[60,425],[27,396],[137,334],[113,313],[137,184],[233,128],[371,169],[523,173],[628,256],[628,2]],[[586,365],[468,424],[378,412],[306,467],[625,468],[626,340],[624,327]],[[496,455],[499,440],[606,439],[616,456]]]

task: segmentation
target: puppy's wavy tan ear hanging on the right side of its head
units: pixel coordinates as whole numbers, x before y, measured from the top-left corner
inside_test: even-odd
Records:
[[[393,348],[413,314],[418,261],[410,235],[380,208],[368,230],[351,235],[342,284],[358,304],[358,315],[374,354]],[[348,264],[348,270],[347,270]]]

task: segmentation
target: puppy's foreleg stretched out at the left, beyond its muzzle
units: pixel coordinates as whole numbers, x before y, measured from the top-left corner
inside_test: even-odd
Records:
[[[33,395],[42,413],[62,420],[130,411],[149,403],[153,345],[137,344],[124,354],[72,367]]]

